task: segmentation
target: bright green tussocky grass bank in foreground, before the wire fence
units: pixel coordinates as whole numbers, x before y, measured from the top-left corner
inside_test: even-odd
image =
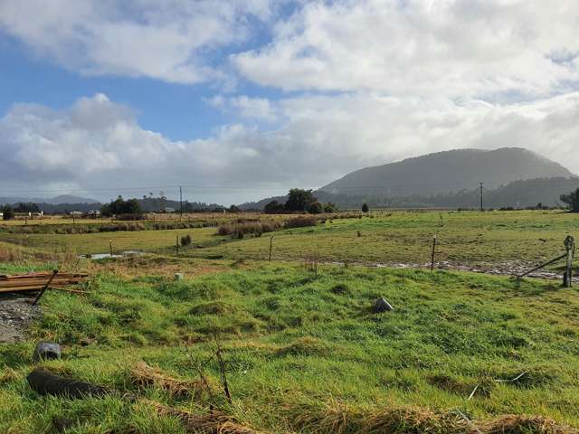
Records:
[[[214,402],[269,432],[336,432],[324,424],[340,414],[351,424],[342,432],[357,432],[360,415],[388,409],[404,409],[396,414],[408,423],[425,410],[436,417],[460,410],[473,420],[516,413],[579,426],[573,289],[445,271],[323,267],[316,276],[297,265],[234,267],[181,282],[154,270],[101,274],[90,296],[50,292],[30,339],[0,346],[0,431],[52,432],[57,416],[73,421],[67,432],[184,432],[144,399],[196,413]],[[372,312],[381,296],[394,312]],[[233,405],[220,391],[214,359],[202,369],[213,398],[176,397],[133,381],[138,361],[198,380],[197,363],[214,354],[215,335]],[[64,345],[65,357],[46,363],[53,370],[135,392],[138,401],[37,396],[24,376],[39,339]],[[451,432],[441,427],[432,432]]]

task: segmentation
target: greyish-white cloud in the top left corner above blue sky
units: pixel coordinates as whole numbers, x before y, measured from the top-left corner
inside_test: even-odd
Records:
[[[0,30],[87,75],[178,83],[223,79],[205,54],[246,40],[277,0],[4,0]]]

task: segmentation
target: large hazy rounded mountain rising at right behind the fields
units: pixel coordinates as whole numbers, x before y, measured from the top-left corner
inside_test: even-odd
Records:
[[[515,181],[573,176],[563,165],[523,148],[460,149],[366,167],[320,190],[381,197],[430,196],[472,190],[480,182],[493,189]]]

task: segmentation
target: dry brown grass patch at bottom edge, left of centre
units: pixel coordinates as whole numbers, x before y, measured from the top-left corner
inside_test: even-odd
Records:
[[[189,411],[177,410],[157,402],[150,402],[161,416],[174,417],[184,424],[187,432],[195,434],[264,434],[263,431],[239,424],[223,411],[212,410],[198,415]]]

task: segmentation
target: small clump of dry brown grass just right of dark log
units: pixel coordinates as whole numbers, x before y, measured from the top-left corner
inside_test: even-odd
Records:
[[[202,380],[183,380],[172,377],[158,368],[145,362],[138,362],[129,372],[129,380],[138,387],[156,386],[175,398],[193,397],[201,399],[204,394],[210,394],[211,383]]]

